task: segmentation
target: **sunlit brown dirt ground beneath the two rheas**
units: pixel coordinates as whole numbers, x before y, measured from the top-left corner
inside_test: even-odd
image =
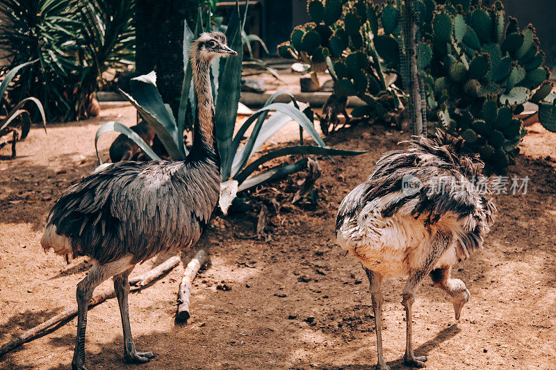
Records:
[[[131,125],[133,108],[101,117],[35,128],[19,143],[18,158],[0,160],[0,344],[75,305],[75,287],[87,270],[66,264],[39,244],[47,212],[68,185],[95,168],[95,131],[117,120]],[[510,176],[529,176],[527,194],[496,195],[499,215],[484,251],[461,262],[454,276],[471,291],[455,325],[446,294],[426,280],[414,305],[414,348],[430,369],[554,369],[556,364],[556,135],[529,128]],[[113,137],[101,137],[106,156]],[[284,206],[270,219],[268,242],[256,239],[257,205],[215,217],[192,251],[205,249],[211,265],[195,280],[192,317],[174,322],[180,265],[142,292],[131,294],[131,327],[148,364],[122,362],[117,301],[88,316],[90,369],[370,369],[377,361],[368,282],[359,263],[335,244],[334,218],[343,196],[361,183],[381,153],[407,134],[360,125],[327,139],[331,146],[368,150],[359,157],[320,160],[316,206]],[[6,149],[1,155],[8,155]],[[302,175],[300,175],[302,176]],[[289,183],[288,183],[289,181]],[[295,182],[276,185],[281,202]],[[290,185],[288,185],[290,184]],[[285,200],[284,200],[285,199]],[[162,257],[145,262],[147,271]],[[217,289],[224,282],[229,291]],[[105,282],[98,289],[111,284]],[[404,369],[402,279],[383,291],[384,355]],[[0,358],[1,369],[67,369],[76,319]]]

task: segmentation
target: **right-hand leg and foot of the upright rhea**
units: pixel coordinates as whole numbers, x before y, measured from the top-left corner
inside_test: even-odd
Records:
[[[124,329],[124,359],[126,362],[139,363],[149,362],[149,359],[154,358],[152,352],[137,352],[133,337],[131,336],[131,325],[129,324],[129,303],[127,296],[129,295],[129,280],[128,276],[133,270],[127,269],[122,274],[113,277],[114,291],[117,296],[117,304],[120,306],[120,316],[122,317],[122,328]]]

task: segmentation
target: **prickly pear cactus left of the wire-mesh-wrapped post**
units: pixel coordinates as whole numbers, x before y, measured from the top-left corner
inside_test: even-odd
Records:
[[[312,22],[295,27],[290,40],[278,46],[279,55],[311,65],[315,78],[328,69],[336,94],[367,103],[352,112],[355,117],[397,110],[400,90],[395,78],[384,74],[400,67],[400,12],[393,1],[378,6],[368,0],[309,0],[307,12]]]

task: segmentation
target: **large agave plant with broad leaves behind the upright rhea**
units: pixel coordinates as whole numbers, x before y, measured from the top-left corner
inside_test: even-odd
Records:
[[[227,28],[228,45],[231,49],[238,51],[238,57],[214,60],[213,65],[211,65],[212,84],[213,87],[216,87],[213,89],[213,94],[215,94],[216,139],[218,140],[222,165],[222,191],[231,194],[230,202],[238,191],[247,190],[275,178],[286,176],[287,174],[299,171],[306,165],[306,158],[302,158],[302,160],[298,160],[293,164],[277,165],[259,174],[254,174],[260,165],[269,160],[285,155],[357,155],[363,153],[360,151],[328,148],[316,132],[313,122],[300,110],[300,104],[288,92],[277,92],[272,95],[265,106],[254,112],[240,127],[236,135],[234,135],[240,98],[242,66],[242,53],[240,53],[242,50],[241,30],[245,22],[245,12],[243,15],[240,15],[240,10],[236,3],[236,8],[231,15]],[[197,20],[195,33],[190,31],[187,25],[185,26],[183,62],[186,65],[186,73],[183,80],[181,103],[177,119],[172,115],[170,106],[163,103],[161,95],[156,89],[156,75],[154,72],[133,78],[131,81],[131,93],[122,92],[126,99],[137,108],[143,119],[152,125],[167,152],[174,160],[183,160],[187,155],[186,146],[183,144],[186,108],[188,105],[194,106],[195,101],[193,99],[193,92],[190,92],[191,68],[186,56],[188,56],[191,40],[202,31],[202,17],[200,15]],[[277,96],[282,94],[290,96],[291,103],[275,103],[274,101]],[[269,117],[270,111],[274,111],[274,113]],[[302,130],[309,133],[316,146],[304,144],[289,146],[271,151],[262,155],[257,160],[249,164],[247,163],[266,140],[292,120],[295,120]],[[242,146],[243,136],[251,126],[253,126],[252,133],[247,142]],[[107,122],[99,128],[95,137],[95,146],[97,146],[99,136],[108,131],[124,133],[136,142],[149,158],[153,160],[158,159],[157,155],[138,135],[117,122]],[[101,163],[100,157],[99,163]],[[226,208],[222,204],[221,207]]]

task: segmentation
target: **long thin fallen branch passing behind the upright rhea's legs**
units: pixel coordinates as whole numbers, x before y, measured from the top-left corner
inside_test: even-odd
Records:
[[[171,269],[176,267],[177,264],[179,264],[179,261],[180,258],[177,256],[168,258],[165,262],[159,264],[154,269],[147,271],[145,274],[135,276],[134,278],[129,279],[129,284],[136,286],[136,288],[133,289],[134,291],[140,290],[142,289],[142,287],[150,283],[152,280],[162,276],[167,271],[170,271]],[[114,288],[106,289],[103,292],[100,292],[99,294],[95,294],[94,296],[92,296],[91,302],[89,303],[89,308],[95,307],[95,305],[98,305],[99,303],[106,301],[106,299],[114,298],[114,297],[115,297]],[[3,344],[0,347],[0,358],[6,353],[13,351],[13,349],[21,346],[22,344],[29,342],[31,339],[35,339],[47,333],[48,330],[54,328],[58,324],[73,319],[76,316],[76,314],[77,314],[77,306],[74,306],[73,308],[69,308],[64,312],[57,314],[55,317],[52,317],[51,319],[44,321],[44,323],[40,323],[38,326],[35,326],[34,328],[27,330],[22,335],[18,335],[14,339],[10,340],[10,342]]]

